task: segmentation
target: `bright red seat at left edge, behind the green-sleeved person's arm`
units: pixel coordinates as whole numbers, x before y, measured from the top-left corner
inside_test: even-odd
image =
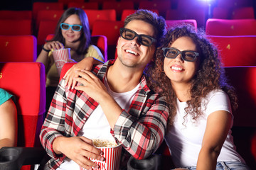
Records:
[[[0,87],[16,98],[18,147],[41,147],[39,133],[46,110],[44,65],[40,62],[2,62]],[[31,166],[21,169],[31,170]]]

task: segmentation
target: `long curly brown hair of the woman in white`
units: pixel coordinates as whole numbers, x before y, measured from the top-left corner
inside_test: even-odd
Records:
[[[203,30],[196,30],[193,26],[189,25],[176,26],[167,31],[161,40],[161,46],[156,50],[155,62],[152,63],[151,67],[147,67],[145,71],[151,89],[159,92],[166,97],[166,101],[169,101],[169,109],[171,111],[169,123],[173,123],[174,116],[176,115],[177,97],[171,86],[170,79],[164,73],[164,54],[161,48],[171,47],[175,40],[184,36],[193,40],[200,54],[200,64],[196,75],[191,81],[191,100],[187,101],[186,115],[192,115],[193,120],[196,121],[203,114],[201,111],[202,99],[215,89],[222,89],[228,94],[232,110],[235,112],[238,108],[238,99],[235,89],[228,84],[228,80],[225,77],[225,70],[219,60],[216,47],[206,38]]]

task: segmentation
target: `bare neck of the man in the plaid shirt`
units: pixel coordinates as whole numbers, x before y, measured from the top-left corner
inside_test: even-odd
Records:
[[[110,89],[117,93],[131,91],[139,84],[143,70],[123,67],[116,62],[107,70],[107,83]]]

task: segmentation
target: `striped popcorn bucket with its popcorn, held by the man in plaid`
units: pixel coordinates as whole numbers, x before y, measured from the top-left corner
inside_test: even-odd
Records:
[[[100,166],[99,169],[95,170],[118,170],[121,161],[122,145],[117,145],[116,142],[110,140],[92,140],[93,145],[98,149],[102,150],[105,161],[99,161],[91,159]],[[80,167],[80,170],[86,170]]]

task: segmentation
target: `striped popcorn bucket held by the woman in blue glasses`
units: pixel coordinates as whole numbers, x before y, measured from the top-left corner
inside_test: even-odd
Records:
[[[53,51],[53,59],[57,67],[58,74],[60,75],[63,65],[70,59],[70,48],[63,48]]]

